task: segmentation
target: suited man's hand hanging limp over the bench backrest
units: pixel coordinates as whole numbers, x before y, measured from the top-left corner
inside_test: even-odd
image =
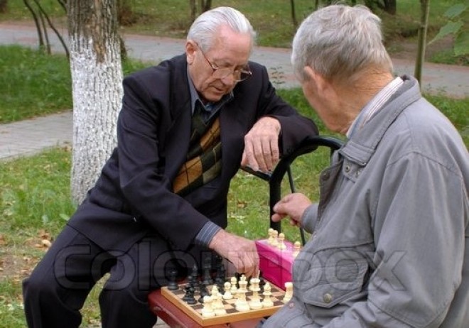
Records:
[[[273,117],[265,116],[252,126],[244,136],[244,151],[242,166],[248,166],[254,171],[269,172],[279,162],[279,134],[280,122]]]

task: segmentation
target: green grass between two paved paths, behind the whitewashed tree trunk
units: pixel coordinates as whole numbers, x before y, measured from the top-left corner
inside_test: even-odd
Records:
[[[123,62],[124,75],[145,65]],[[19,45],[0,45],[0,123],[72,108],[70,65],[64,55],[45,55]]]

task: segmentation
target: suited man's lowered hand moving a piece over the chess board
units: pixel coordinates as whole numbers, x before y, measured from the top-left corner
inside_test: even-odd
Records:
[[[221,229],[213,236],[209,247],[233,263],[237,273],[244,273],[247,277],[259,273],[259,256],[254,241]]]

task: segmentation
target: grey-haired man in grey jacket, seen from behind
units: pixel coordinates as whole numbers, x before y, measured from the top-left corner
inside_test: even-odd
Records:
[[[380,19],[364,6],[311,14],[293,40],[309,104],[347,141],[320,200],[286,195],[272,219],[312,233],[293,299],[263,327],[469,324],[469,156],[409,76],[394,77]]]

